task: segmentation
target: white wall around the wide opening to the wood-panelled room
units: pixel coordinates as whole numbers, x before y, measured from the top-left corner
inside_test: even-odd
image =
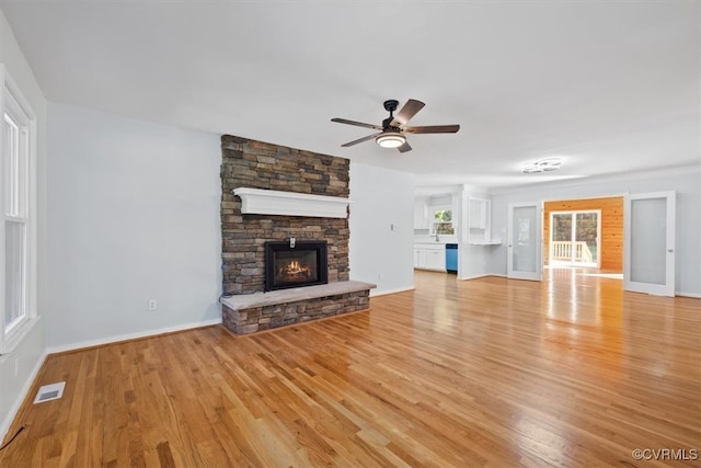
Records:
[[[551,184],[504,192],[492,196],[492,231],[501,236],[506,228],[508,204],[645,192],[677,192],[676,292],[701,295],[701,165],[670,169],[590,181]],[[506,274],[506,247],[495,248],[487,270]]]

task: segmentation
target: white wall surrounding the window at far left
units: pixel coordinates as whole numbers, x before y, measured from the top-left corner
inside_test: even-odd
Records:
[[[4,14],[0,11],[0,62],[7,67],[37,119],[37,313],[46,308],[46,100],[24,59]],[[0,441],[44,362],[45,322],[39,320],[11,353],[0,357]],[[18,373],[15,375],[15,365]]]

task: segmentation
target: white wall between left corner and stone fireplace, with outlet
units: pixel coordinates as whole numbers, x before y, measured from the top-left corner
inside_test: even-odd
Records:
[[[49,104],[48,141],[49,352],[220,321],[220,137]]]

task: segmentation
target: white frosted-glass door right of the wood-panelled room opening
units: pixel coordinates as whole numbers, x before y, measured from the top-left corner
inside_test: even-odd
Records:
[[[625,196],[625,290],[675,295],[675,192]]]

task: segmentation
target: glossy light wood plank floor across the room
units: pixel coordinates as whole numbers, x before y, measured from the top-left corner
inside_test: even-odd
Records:
[[[424,272],[366,312],[51,355],[30,398],[65,396],[0,466],[699,466],[632,450],[701,452],[701,301],[574,272]]]

